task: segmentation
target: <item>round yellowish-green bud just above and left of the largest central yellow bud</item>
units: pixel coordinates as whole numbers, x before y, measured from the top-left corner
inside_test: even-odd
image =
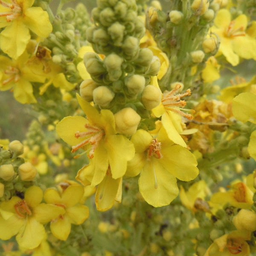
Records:
[[[115,93],[106,86],[99,86],[93,90],[93,102],[102,107],[107,107],[114,96]]]

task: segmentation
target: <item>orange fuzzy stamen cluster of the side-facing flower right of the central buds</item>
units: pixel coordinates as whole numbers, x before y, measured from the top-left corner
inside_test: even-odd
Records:
[[[173,111],[181,116],[185,116],[187,119],[190,120],[193,118],[193,116],[189,113],[195,113],[195,111],[191,109],[181,109],[186,106],[186,102],[184,100],[181,100],[181,98],[183,98],[184,96],[189,96],[191,94],[191,91],[190,89],[188,89],[185,93],[176,94],[180,88],[181,85],[176,84],[173,90],[163,96],[162,104],[165,109]],[[189,113],[185,113],[184,111]]]

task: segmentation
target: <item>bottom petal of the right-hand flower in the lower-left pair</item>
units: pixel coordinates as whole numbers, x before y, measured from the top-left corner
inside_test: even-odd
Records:
[[[71,223],[67,217],[58,218],[57,221],[52,221],[50,229],[53,236],[60,240],[67,240],[71,230]]]

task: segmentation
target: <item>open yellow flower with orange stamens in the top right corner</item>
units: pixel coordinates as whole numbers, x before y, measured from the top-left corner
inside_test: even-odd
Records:
[[[227,9],[218,11],[215,17],[215,26],[210,30],[216,33],[220,38],[219,52],[221,52],[227,61],[236,66],[239,64],[239,57],[256,60],[256,39],[248,35],[247,17],[239,15],[231,20],[231,14]]]

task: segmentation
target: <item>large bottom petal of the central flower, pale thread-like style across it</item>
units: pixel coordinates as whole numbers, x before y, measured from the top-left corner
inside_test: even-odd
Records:
[[[179,193],[176,178],[153,157],[140,173],[139,189],[148,204],[161,207],[171,203]]]

